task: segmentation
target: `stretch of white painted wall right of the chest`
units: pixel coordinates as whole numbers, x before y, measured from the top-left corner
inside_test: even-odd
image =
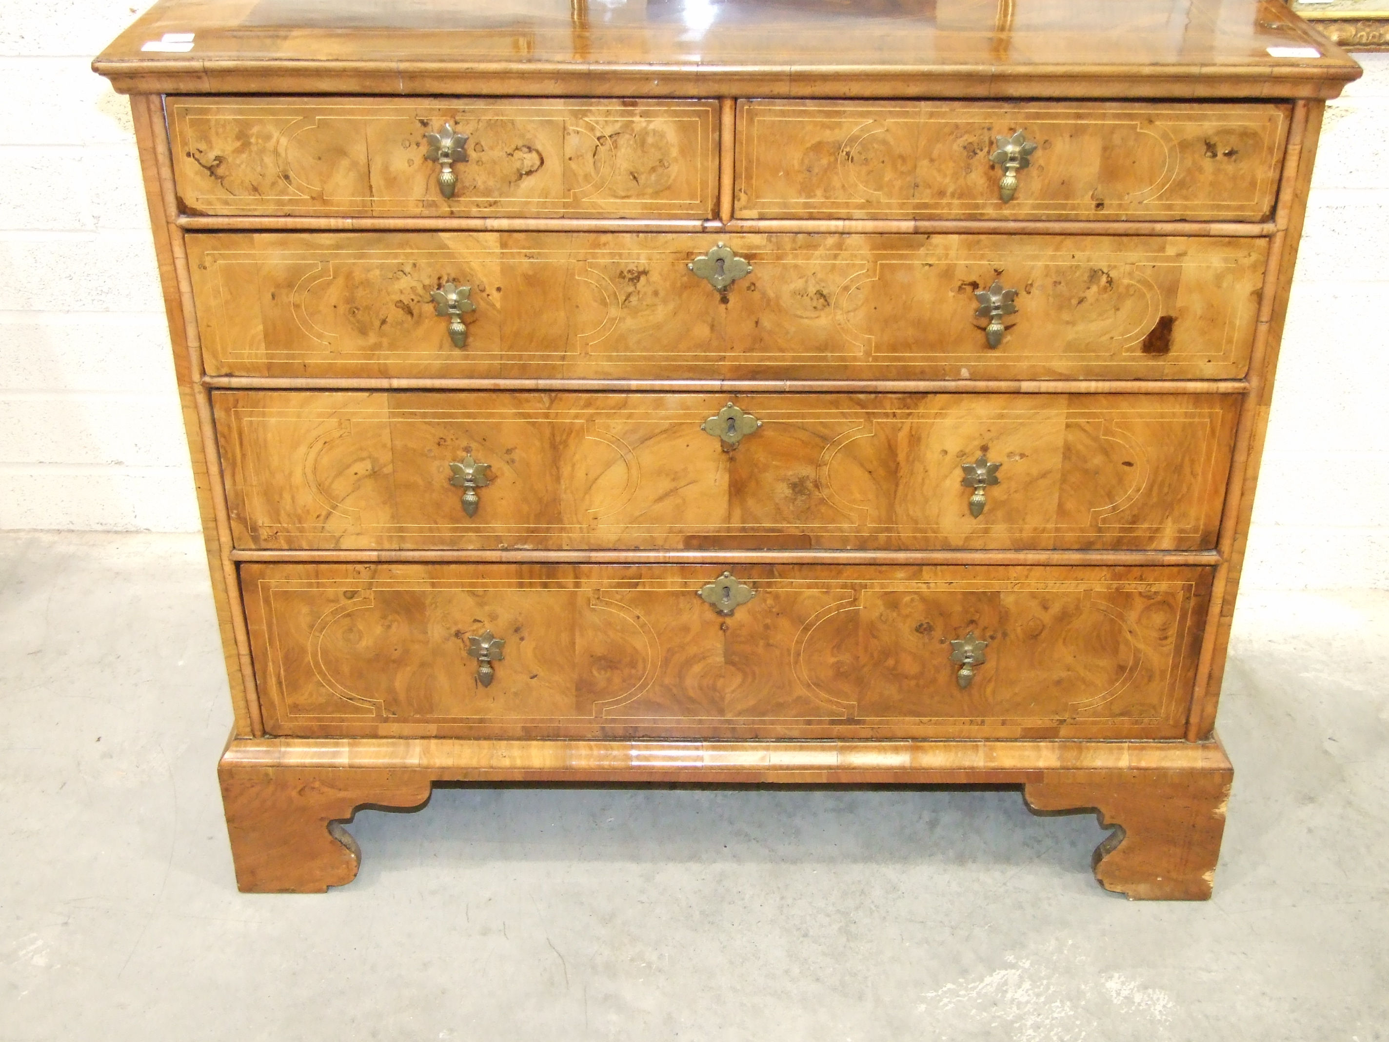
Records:
[[[1326,107],[1246,585],[1389,588],[1389,54]]]

